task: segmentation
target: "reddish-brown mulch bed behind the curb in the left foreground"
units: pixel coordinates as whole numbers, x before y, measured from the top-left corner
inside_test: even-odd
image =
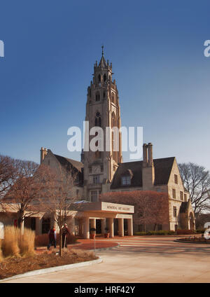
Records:
[[[46,251],[43,254],[34,254],[34,256],[6,258],[0,262],[0,279],[19,275],[31,270],[91,261],[97,258],[93,253],[85,253],[85,251],[78,253],[64,251],[62,257],[53,252]]]

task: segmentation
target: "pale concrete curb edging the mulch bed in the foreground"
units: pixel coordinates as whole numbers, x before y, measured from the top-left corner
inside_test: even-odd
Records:
[[[45,268],[45,269],[38,269],[38,270],[32,270],[29,272],[22,273],[21,275],[14,275],[13,277],[8,277],[6,279],[1,279],[1,282],[6,282],[8,280],[13,280],[13,279],[18,279],[22,277],[31,277],[34,275],[43,275],[45,273],[50,273],[50,272],[57,272],[57,271],[62,271],[66,269],[71,269],[71,268],[79,268],[79,267],[84,267],[84,266],[89,266],[97,263],[101,263],[102,258],[99,257],[96,260],[92,261],[86,261],[86,262],[80,262],[80,263],[75,263],[75,264],[68,264],[68,265],[62,265],[62,266],[55,266],[55,267],[50,267],[50,268]]]

